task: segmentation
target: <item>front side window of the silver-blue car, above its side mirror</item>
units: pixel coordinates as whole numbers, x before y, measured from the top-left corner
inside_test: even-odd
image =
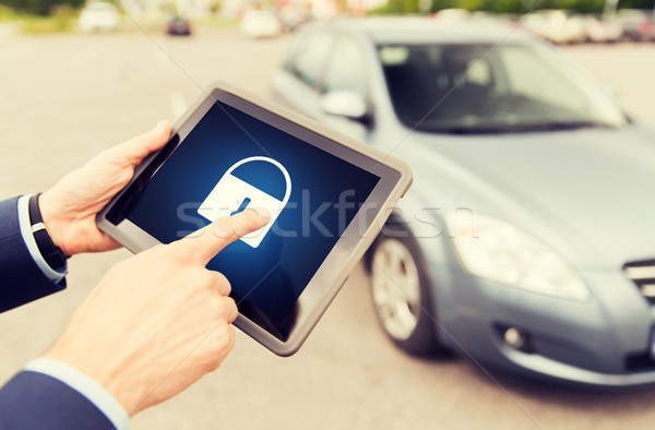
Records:
[[[342,37],[336,43],[323,76],[323,93],[337,89],[367,95],[364,51],[356,41]]]

